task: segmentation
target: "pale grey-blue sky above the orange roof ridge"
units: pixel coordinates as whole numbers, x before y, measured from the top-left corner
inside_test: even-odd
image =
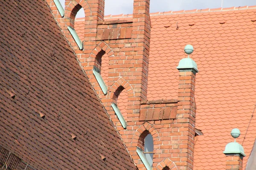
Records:
[[[60,0],[64,6],[65,0]],[[150,0],[150,12],[256,6],[256,0]],[[133,0],[105,0],[105,15],[132,14]],[[77,18],[84,17],[80,10]]]

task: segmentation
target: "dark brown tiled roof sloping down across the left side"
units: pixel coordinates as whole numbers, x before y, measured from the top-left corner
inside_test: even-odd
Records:
[[[0,8],[0,145],[38,170],[137,169],[47,3]]]

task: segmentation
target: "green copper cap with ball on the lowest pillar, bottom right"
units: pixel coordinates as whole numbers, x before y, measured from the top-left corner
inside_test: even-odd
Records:
[[[235,128],[231,131],[231,136],[235,138],[235,142],[230,142],[226,145],[225,150],[223,152],[225,155],[236,155],[240,156],[241,159],[243,159],[243,157],[245,156],[244,148],[242,147],[241,144],[236,142],[236,138],[238,138],[240,134],[241,133],[239,129]]]

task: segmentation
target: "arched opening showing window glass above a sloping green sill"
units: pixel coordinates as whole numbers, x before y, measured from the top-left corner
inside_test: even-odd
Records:
[[[147,170],[152,170],[153,167],[153,136],[145,130],[139,138],[137,153]]]

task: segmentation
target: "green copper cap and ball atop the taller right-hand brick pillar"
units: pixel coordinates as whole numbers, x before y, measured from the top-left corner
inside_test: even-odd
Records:
[[[184,51],[186,54],[192,54],[192,52],[194,51],[194,48],[192,47],[192,45],[186,45],[184,48]],[[195,63],[195,61],[191,58],[183,58],[180,60],[179,65],[177,66],[177,69],[179,71],[193,71],[194,73],[198,73],[198,68],[197,68],[197,64]]]

